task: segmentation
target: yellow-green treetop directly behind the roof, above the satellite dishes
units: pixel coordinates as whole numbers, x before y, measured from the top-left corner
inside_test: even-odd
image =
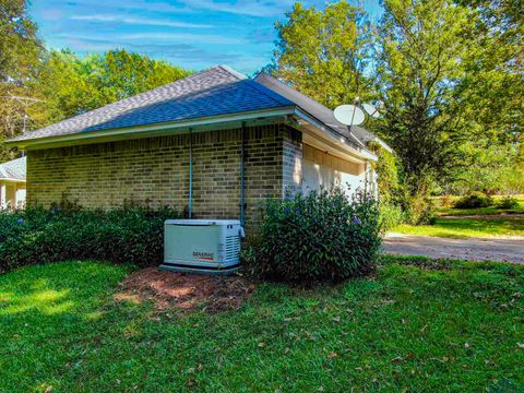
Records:
[[[345,0],[327,4],[324,11],[297,2],[286,17],[276,23],[277,78],[331,108],[372,95],[366,76],[371,25],[362,10]]]

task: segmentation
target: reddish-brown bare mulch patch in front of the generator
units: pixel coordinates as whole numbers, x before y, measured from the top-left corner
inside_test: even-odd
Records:
[[[255,285],[240,275],[204,275],[158,271],[138,271],[120,284],[117,301],[152,300],[156,310],[190,311],[202,307],[214,313],[237,310],[254,290]]]

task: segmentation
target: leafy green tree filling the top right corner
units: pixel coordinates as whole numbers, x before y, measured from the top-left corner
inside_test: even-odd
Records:
[[[524,17],[521,0],[458,0],[477,17],[476,50],[463,58],[467,78],[457,86],[460,106],[469,107],[479,148],[517,144],[524,129]]]

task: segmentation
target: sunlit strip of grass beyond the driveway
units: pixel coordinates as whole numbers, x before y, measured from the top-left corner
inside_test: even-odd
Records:
[[[448,238],[524,236],[524,217],[437,218],[434,225],[400,225],[392,231]]]

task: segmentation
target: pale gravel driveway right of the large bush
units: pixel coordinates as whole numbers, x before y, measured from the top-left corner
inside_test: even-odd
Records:
[[[449,239],[388,234],[384,252],[468,261],[524,264],[524,237]]]

